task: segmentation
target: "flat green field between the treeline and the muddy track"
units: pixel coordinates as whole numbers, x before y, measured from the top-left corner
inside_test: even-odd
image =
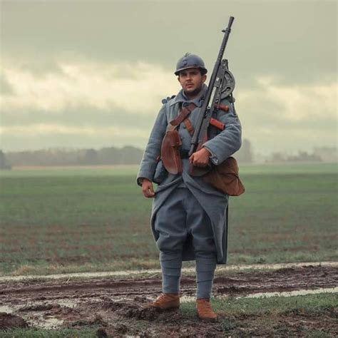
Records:
[[[137,167],[0,174],[0,274],[159,267]],[[229,264],[337,260],[337,165],[247,165]]]

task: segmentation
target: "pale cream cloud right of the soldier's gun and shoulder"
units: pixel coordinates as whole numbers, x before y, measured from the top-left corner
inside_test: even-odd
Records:
[[[255,88],[237,95],[243,136],[264,152],[335,145],[337,90],[335,81],[287,85],[257,77]]]

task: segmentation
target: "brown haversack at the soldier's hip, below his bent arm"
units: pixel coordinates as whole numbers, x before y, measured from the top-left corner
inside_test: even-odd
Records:
[[[240,180],[237,161],[231,156],[220,165],[212,165],[212,169],[203,176],[203,180],[230,196],[239,196],[245,192]]]

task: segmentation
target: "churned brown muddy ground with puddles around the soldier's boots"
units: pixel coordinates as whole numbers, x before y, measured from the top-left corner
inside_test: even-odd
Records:
[[[337,267],[292,267],[237,272],[215,278],[215,297],[245,297],[257,292],[316,290],[338,286]],[[158,277],[133,280],[46,280],[0,283],[0,329],[9,327],[81,328],[97,325],[98,337],[220,337],[223,335],[302,335],[317,329],[338,335],[337,312],[290,312],[273,317],[219,313],[216,323],[175,312],[157,312],[145,304],[160,293]],[[195,279],[183,277],[181,293],[195,295]],[[269,320],[269,316],[271,320]],[[270,323],[267,325],[266,323]],[[287,332],[285,331],[287,328]]]

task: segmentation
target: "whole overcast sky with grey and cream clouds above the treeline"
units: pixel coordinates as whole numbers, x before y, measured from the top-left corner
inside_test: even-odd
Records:
[[[186,52],[225,58],[255,151],[337,144],[337,1],[0,1],[1,148],[144,148]]]

